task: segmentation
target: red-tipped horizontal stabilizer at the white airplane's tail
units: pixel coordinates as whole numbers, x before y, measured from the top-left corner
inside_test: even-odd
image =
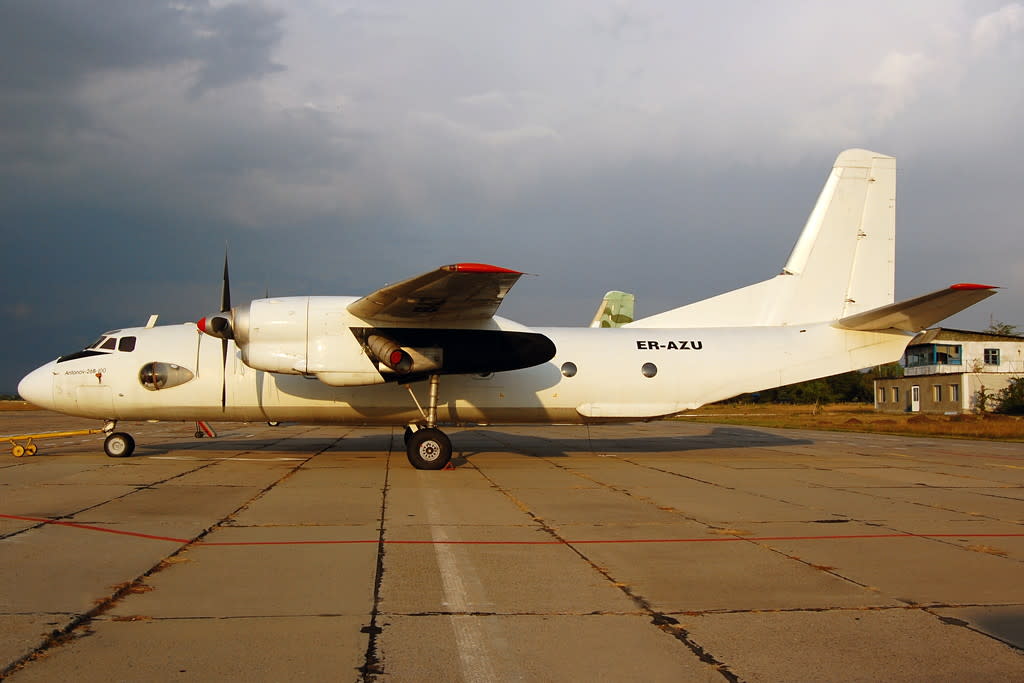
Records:
[[[961,284],[906,301],[849,315],[836,323],[836,327],[861,332],[905,330],[921,332],[953,313],[995,294],[989,285]]]

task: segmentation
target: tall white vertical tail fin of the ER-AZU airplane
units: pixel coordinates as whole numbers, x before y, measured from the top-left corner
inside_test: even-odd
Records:
[[[627,327],[795,325],[879,308],[894,299],[895,239],[896,160],[847,150],[782,272]]]

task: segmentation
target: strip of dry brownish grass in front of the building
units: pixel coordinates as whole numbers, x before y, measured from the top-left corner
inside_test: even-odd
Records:
[[[926,415],[878,413],[868,404],[781,405],[730,403],[706,405],[684,420],[731,425],[856,431],[910,436],[945,436],[1024,441],[1024,419],[1005,415]]]

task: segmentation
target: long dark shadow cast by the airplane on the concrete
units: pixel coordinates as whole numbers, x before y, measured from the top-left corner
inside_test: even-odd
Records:
[[[284,429],[287,429],[284,428]],[[622,426],[617,427],[618,430]],[[812,443],[806,438],[790,438],[740,427],[714,427],[707,434],[685,434],[666,436],[600,436],[601,428],[580,427],[578,436],[564,436],[552,433],[545,435],[545,429],[539,428],[536,433],[509,433],[492,429],[473,429],[455,432],[452,442],[455,453],[453,463],[465,464],[468,459],[478,455],[486,455],[496,451],[508,451],[528,458],[566,458],[573,454],[627,455],[641,453],[686,453],[693,451],[714,451],[720,449],[764,449],[777,446],[807,445]],[[340,436],[340,435],[339,435]],[[329,436],[327,438],[330,438]],[[326,437],[287,438],[286,433],[274,438],[232,438],[223,436],[213,439],[195,439],[179,441],[174,444],[175,452],[185,452],[202,457],[207,453],[225,452],[258,456],[266,454],[292,454],[295,456],[323,453],[332,454],[367,454],[383,455],[388,451],[399,455],[403,452],[400,432],[380,430],[377,433],[362,433],[343,436],[325,450]],[[136,456],[167,455],[171,449],[162,443],[139,443]],[[228,458],[230,456],[227,456]]]

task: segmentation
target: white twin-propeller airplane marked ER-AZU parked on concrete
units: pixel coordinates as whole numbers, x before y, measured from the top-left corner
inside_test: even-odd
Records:
[[[994,294],[961,284],[893,303],[895,189],[894,158],[843,152],[778,275],[621,327],[499,317],[522,273],[479,263],[362,298],[232,307],[225,259],[219,312],[106,332],[30,373],[18,392],[105,421],[112,457],[134,450],[118,420],[404,425],[420,469],[452,456],[438,425],[668,417],[897,360],[914,333]]]

